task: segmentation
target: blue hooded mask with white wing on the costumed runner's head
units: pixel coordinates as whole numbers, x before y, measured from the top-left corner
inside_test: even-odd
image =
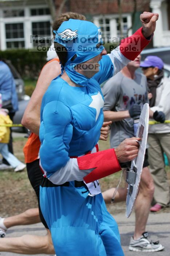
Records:
[[[67,49],[67,62],[62,67],[70,79],[81,86],[86,86],[88,78],[75,71],[75,66],[99,55],[104,47],[100,28],[92,22],[69,19],[64,21],[57,31],[54,42]]]

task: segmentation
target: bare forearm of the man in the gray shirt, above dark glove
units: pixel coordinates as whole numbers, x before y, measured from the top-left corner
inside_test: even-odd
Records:
[[[124,118],[129,118],[129,111],[104,111],[104,121],[120,121],[123,120]]]

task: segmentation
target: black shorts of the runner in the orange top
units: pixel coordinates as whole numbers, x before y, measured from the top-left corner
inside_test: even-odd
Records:
[[[38,208],[39,208],[39,215],[40,215],[41,222],[46,227],[46,229],[48,229],[47,223],[43,217],[43,214],[40,208],[40,184],[43,178],[43,173],[41,172],[39,162],[40,162],[39,159],[37,159],[31,163],[27,163],[27,173],[28,173],[28,178],[31,183],[31,186],[33,187],[38,199]]]

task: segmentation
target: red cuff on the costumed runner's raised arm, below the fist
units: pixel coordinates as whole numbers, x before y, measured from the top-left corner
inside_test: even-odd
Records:
[[[152,38],[152,36],[151,36]],[[149,44],[150,40],[147,40],[142,34],[142,27],[138,29],[130,37],[122,39],[120,43],[120,52],[129,60],[134,60],[139,53]]]

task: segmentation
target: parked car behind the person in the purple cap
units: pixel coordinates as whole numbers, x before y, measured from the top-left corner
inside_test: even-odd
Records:
[[[170,79],[170,47],[158,47],[152,49],[146,49],[141,52],[141,61],[143,61],[148,55],[158,56],[163,60],[164,75]]]

